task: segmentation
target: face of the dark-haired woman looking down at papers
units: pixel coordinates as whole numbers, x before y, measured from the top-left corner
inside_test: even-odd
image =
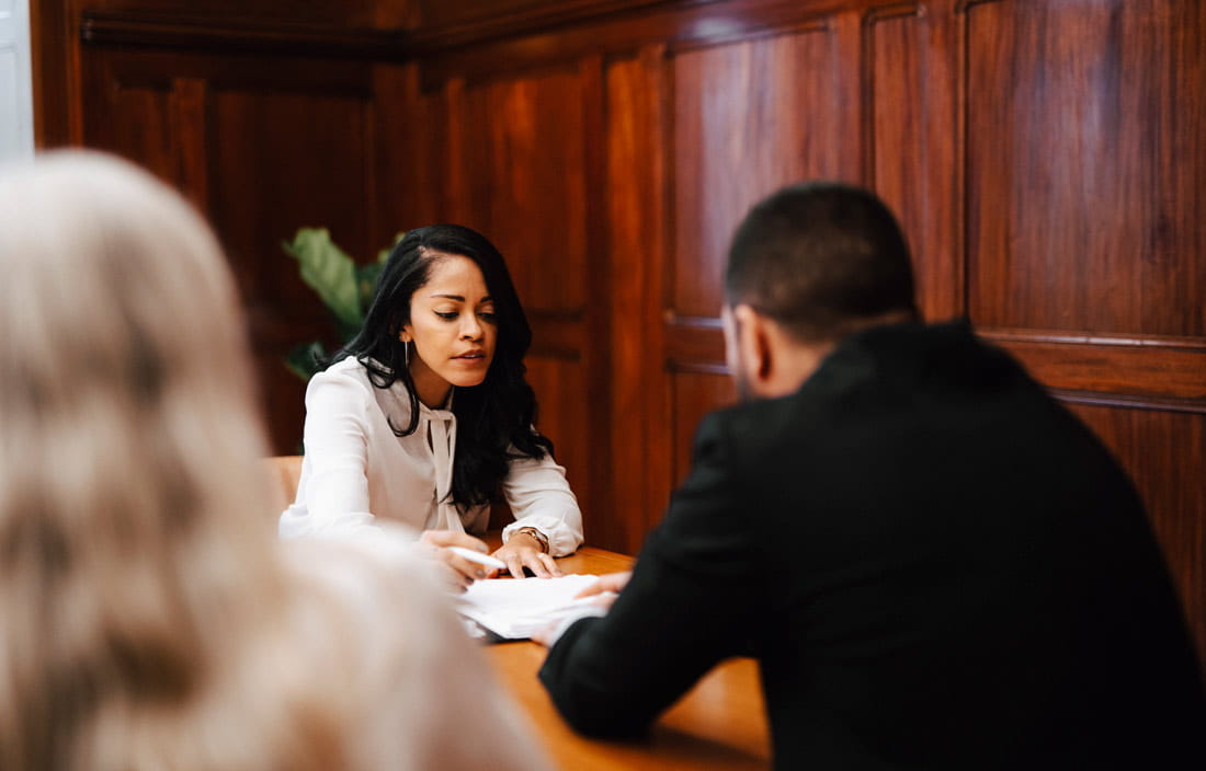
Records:
[[[459,254],[437,257],[427,283],[410,298],[410,323],[398,337],[414,342],[410,376],[425,405],[443,405],[450,386],[485,381],[498,326],[481,269]]]

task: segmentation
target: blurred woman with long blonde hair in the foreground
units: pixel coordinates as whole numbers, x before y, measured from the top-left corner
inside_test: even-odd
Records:
[[[236,294],[124,161],[0,171],[0,767],[546,767],[431,564],[274,537]]]

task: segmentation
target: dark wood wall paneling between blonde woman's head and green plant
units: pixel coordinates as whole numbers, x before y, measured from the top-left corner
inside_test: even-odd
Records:
[[[334,326],[281,249],[326,226],[355,259],[388,242],[376,210],[368,66],[86,47],[83,141],[177,186],[213,223],[248,312],[277,452],[302,439],[304,384],[281,364]]]

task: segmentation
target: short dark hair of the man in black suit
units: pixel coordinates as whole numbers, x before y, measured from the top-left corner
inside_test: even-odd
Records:
[[[833,182],[786,187],[750,210],[728,249],[725,295],[806,342],[885,316],[918,317],[892,213],[872,193]]]

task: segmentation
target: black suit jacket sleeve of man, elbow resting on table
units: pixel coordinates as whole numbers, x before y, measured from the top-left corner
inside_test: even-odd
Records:
[[[562,716],[628,736],[720,660],[745,652],[766,596],[755,498],[742,489],[722,419],[696,436],[692,471],[604,618],[570,626],[540,679]]]

